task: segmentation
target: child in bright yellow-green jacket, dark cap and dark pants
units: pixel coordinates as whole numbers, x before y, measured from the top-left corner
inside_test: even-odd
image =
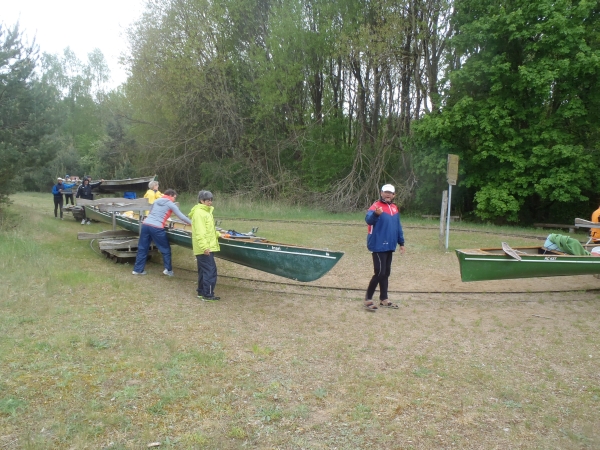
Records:
[[[192,208],[188,217],[192,219],[192,246],[198,264],[198,298],[212,302],[219,300],[215,296],[217,285],[217,265],[214,252],[218,252],[220,233],[215,227],[212,206],[213,195],[210,191],[198,193],[198,204]]]

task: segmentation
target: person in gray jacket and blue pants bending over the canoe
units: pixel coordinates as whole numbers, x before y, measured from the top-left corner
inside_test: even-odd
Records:
[[[150,243],[154,242],[154,245],[158,247],[163,257],[163,264],[165,266],[163,274],[170,277],[173,276],[171,245],[167,239],[165,225],[172,213],[175,213],[177,217],[188,225],[192,224],[192,221],[175,204],[175,198],[177,198],[177,192],[173,189],[167,189],[161,198],[154,201],[150,214],[142,222],[142,229],[138,240],[138,253],[135,258],[135,266],[133,266],[133,275],[146,275],[144,267],[146,267],[148,250],[150,249]]]

